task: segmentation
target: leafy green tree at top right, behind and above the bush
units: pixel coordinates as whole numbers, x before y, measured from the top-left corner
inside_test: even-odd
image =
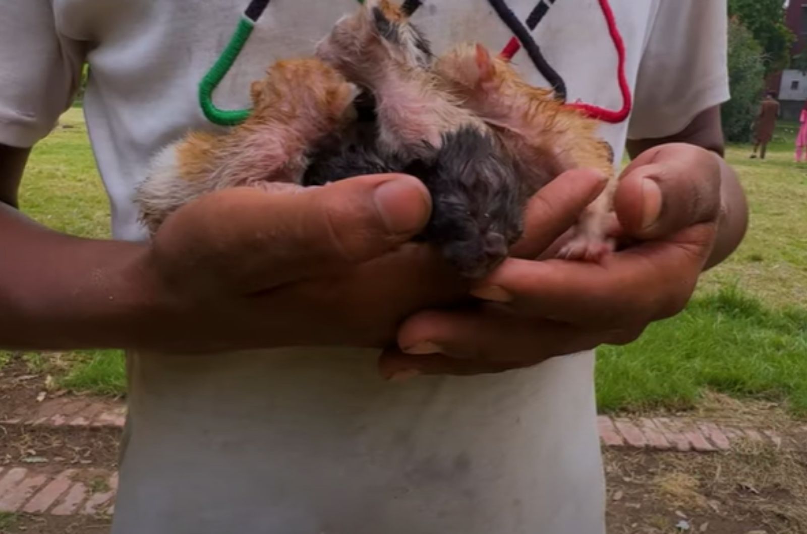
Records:
[[[783,3],[782,0],[729,0],[729,15],[737,17],[762,46],[766,73],[788,68],[790,48],[796,41],[796,35],[785,23]]]

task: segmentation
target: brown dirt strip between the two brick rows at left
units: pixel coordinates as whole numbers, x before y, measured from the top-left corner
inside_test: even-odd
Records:
[[[69,467],[116,469],[120,431],[0,425],[0,466],[31,465],[43,473]]]

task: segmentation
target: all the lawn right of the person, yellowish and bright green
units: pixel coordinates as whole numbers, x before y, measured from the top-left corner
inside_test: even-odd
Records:
[[[706,390],[784,401],[807,415],[807,165],[793,161],[797,125],[781,123],[764,161],[729,148],[751,223],[696,298],[626,347],[598,351],[602,411],[694,407]]]

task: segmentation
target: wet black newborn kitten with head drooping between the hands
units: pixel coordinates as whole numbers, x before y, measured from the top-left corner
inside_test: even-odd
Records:
[[[374,173],[420,178],[432,195],[432,217],[418,236],[470,278],[483,277],[521,237],[525,196],[512,162],[493,136],[473,128],[445,134],[432,157],[406,160],[367,144],[330,146],[312,156],[304,184]]]

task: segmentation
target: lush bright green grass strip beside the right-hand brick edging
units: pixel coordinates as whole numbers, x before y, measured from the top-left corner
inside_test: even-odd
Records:
[[[807,414],[807,310],[771,309],[734,288],[694,299],[626,347],[600,348],[600,410],[686,409],[704,388],[788,399]]]

